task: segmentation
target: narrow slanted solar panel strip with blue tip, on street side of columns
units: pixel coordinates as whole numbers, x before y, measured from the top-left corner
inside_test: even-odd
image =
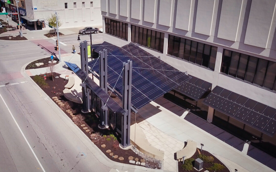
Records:
[[[106,103],[109,95],[103,91],[90,77],[87,77],[86,73],[83,72],[76,64],[65,62],[65,64],[73,70],[76,75],[81,78],[82,81],[98,96],[100,99]],[[114,112],[126,112],[117,102],[115,102],[111,97],[108,99],[107,107],[109,107]]]

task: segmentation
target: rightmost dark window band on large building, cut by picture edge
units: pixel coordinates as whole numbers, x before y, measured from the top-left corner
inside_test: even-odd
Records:
[[[224,49],[221,72],[276,91],[276,62]]]

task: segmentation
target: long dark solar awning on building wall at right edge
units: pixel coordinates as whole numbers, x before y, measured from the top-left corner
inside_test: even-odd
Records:
[[[267,135],[276,132],[276,109],[216,86],[203,102]]]

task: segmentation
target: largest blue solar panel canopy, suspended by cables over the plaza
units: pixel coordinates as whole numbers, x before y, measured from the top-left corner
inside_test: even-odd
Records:
[[[108,53],[107,82],[113,88],[123,69],[123,62],[128,60],[132,60],[131,104],[136,109],[142,108],[191,78],[134,43],[129,43]],[[90,61],[89,67],[92,68],[95,62],[96,60]],[[99,73],[99,61],[92,70]],[[123,94],[122,76],[115,89]]]

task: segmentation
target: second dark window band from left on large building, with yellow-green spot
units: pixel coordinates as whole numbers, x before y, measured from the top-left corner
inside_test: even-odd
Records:
[[[131,25],[131,42],[151,48],[163,53],[164,33],[151,29]]]

